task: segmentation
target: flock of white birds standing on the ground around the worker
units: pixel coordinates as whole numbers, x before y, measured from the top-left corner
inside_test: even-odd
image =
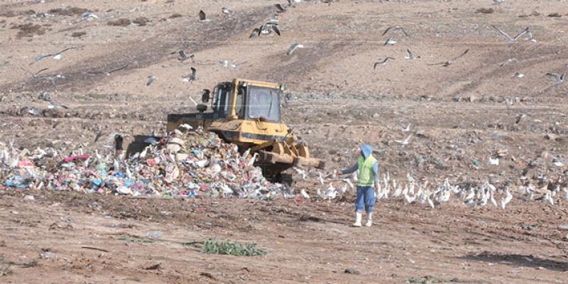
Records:
[[[307,173],[304,170],[295,168],[296,172],[302,177],[307,178]],[[326,185],[325,190],[316,190],[316,195],[321,200],[333,200],[339,195],[343,195],[348,189],[354,190],[357,178],[356,173],[351,175],[351,178],[344,178],[341,180],[342,185],[337,186],[334,177],[335,173],[324,177],[321,173],[318,174],[320,185]],[[382,180],[378,182],[376,188],[376,200],[399,200],[404,204],[427,204],[436,208],[440,204],[449,202],[452,197],[457,199],[458,202],[465,204],[467,207],[473,209],[475,207],[485,207],[491,204],[493,207],[506,209],[507,205],[513,200],[513,190],[510,185],[506,185],[503,189],[498,189],[495,185],[489,182],[484,182],[479,186],[466,185],[452,185],[448,179],[445,179],[439,185],[430,186],[429,182],[417,182],[410,174],[406,175],[406,182],[397,182],[392,179],[389,173],[383,174]],[[332,180],[327,182],[327,180]],[[337,187],[336,187],[337,186]],[[556,185],[552,190],[547,189],[548,185],[537,188],[535,185],[526,183],[520,185],[516,191],[517,197],[525,201],[541,201],[546,204],[555,206],[557,199],[562,199],[568,202],[568,187],[560,188]],[[307,191],[300,190],[300,195],[305,199],[310,199]],[[498,199],[496,195],[500,195]]]

